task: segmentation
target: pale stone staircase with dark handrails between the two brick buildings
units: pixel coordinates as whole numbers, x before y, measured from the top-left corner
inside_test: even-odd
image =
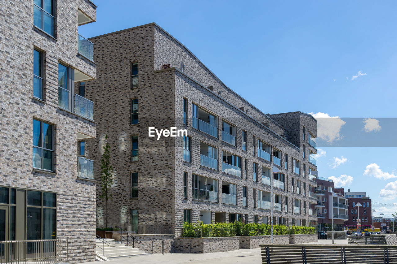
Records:
[[[141,256],[149,253],[145,253],[145,251],[141,251],[139,249],[133,249],[131,246],[127,246],[124,243],[120,243],[120,241],[115,241],[114,239],[104,239],[104,243],[102,239],[96,239],[96,247],[95,251],[97,255],[103,256],[104,260],[113,259],[113,258],[125,258],[131,256]],[[103,245],[103,246],[102,246]],[[102,248],[103,254],[102,254]]]

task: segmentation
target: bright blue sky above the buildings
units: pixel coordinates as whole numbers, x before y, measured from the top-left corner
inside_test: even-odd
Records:
[[[346,124],[340,127],[333,145],[347,145],[355,138],[355,131],[364,135],[363,143],[393,134],[386,129],[395,131],[394,119],[382,119],[396,113],[395,1],[94,3],[98,6],[97,22],[80,26],[81,35],[88,38],[156,22],[229,88],[264,113],[299,110],[341,117]],[[369,117],[379,121],[380,128],[370,120],[368,132],[362,130],[365,123],[360,120]],[[349,120],[355,120],[354,128]],[[335,125],[331,132],[338,129],[338,122]],[[329,143],[327,133],[331,132],[325,131],[324,139],[317,140]],[[341,143],[343,140],[345,143]],[[346,189],[367,191],[373,201],[395,203],[396,147],[364,146],[319,147],[326,151],[325,156],[318,157],[320,176],[351,176],[353,180],[350,186],[344,186]],[[332,168],[334,157],[341,161]],[[371,165],[364,175],[370,164],[378,168]],[[384,197],[380,197],[382,189],[387,194]],[[387,215],[395,210],[397,207],[378,212]]]

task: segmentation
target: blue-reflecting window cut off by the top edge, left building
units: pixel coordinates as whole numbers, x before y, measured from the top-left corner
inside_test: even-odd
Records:
[[[33,9],[35,26],[54,36],[54,0],[35,0]]]

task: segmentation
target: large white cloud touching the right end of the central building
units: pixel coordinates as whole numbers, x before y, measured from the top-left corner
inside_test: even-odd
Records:
[[[326,113],[309,113],[317,120],[317,137],[326,140],[328,143],[333,143],[334,140],[340,140],[341,128],[345,121],[339,117],[331,117]]]

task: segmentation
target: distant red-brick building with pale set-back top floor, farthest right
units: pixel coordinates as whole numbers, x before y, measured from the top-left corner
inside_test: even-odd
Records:
[[[372,228],[372,203],[365,191],[345,191],[345,197],[349,200],[349,220],[345,225],[349,229],[357,229],[360,223],[361,230]],[[357,204],[362,206],[357,207]]]

